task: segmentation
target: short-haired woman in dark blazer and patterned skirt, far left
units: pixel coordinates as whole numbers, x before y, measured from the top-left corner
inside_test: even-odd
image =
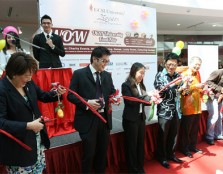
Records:
[[[57,95],[65,89],[42,91],[31,81],[37,69],[37,62],[30,55],[14,53],[6,65],[6,76],[0,81],[0,129],[32,148],[28,151],[0,134],[0,162],[8,173],[42,173],[45,168],[44,146],[49,148],[50,141],[37,101],[57,101]]]

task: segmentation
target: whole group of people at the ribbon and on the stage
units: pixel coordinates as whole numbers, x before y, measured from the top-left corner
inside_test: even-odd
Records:
[[[63,86],[56,90],[42,91],[33,81],[32,75],[38,68],[62,67],[59,56],[65,51],[61,38],[52,32],[52,19],[41,18],[43,32],[33,39],[32,57],[21,48],[18,31],[14,28],[5,33],[6,47],[0,57],[1,68],[6,75],[0,80],[0,129],[11,133],[32,150],[27,151],[10,138],[0,134],[0,162],[9,173],[42,173],[45,168],[44,149],[50,147],[44,121],[37,101],[54,102],[66,92]],[[74,71],[70,89],[78,93],[87,103],[68,92],[67,99],[75,104],[74,127],[79,132],[83,146],[82,173],[105,173],[112,112],[109,112],[109,97],[116,92],[111,74],[105,71],[111,52],[103,46],[96,47],[90,56],[90,64]],[[38,61],[38,62],[37,62]],[[188,69],[177,72],[179,56],[169,53],[159,67],[154,88],[160,91],[162,101],[157,104],[158,135],[156,158],[165,168],[169,160],[183,163],[175,155],[177,142],[179,150],[189,158],[192,152],[202,153],[196,147],[201,115],[201,98],[204,88],[210,89],[207,101],[208,121],[205,140],[213,145],[222,136],[223,70],[210,74],[206,83],[201,83],[199,69],[202,60],[193,57]],[[123,96],[150,102],[152,92],[144,85],[145,66],[132,64],[121,89]],[[174,83],[166,87],[169,83]],[[129,173],[144,171],[144,136],[146,114],[149,104],[124,99],[122,125],[126,147],[126,162]],[[119,105],[120,102],[115,104]],[[96,110],[106,120],[102,122],[92,112]],[[181,131],[179,131],[181,130]],[[181,132],[181,135],[179,135]]]

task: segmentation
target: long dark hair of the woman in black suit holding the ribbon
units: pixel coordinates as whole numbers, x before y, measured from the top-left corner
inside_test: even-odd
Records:
[[[145,68],[146,67],[139,63],[139,62],[136,62],[132,65],[131,69],[130,69],[130,73],[129,73],[129,76],[127,77],[126,81],[128,81],[130,83],[130,86],[131,86],[131,89],[132,89],[132,92],[133,92],[133,95],[134,96],[137,96],[139,94],[137,88],[136,88],[136,79],[135,79],[135,75],[137,73],[137,71],[139,71],[141,68]],[[143,79],[140,83],[140,88],[143,90],[143,91],[146,91],[146,87],[143,83]]]

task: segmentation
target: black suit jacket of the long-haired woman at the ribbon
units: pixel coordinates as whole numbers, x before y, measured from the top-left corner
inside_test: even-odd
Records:
[[[122,95],[123,96],[130,96],[130,97],[136,97],[145,101],[150,101],[150,97],[146,94],[145,91],[142,90],[142,95],[137,94],[135,96],[133,94],[133,90],[137,90],[137,87],[135,85],[135,89],[133,89],[130,85],[129,81],[126,81],[122,84]],[[138,90],[137,90],[138,91]],[[139,117],[139,111],[140,111],[140,103],[139,102],[134,102],[134,101],[129,101],[124,99],[125,107],[123,111],[123,118],[128,120],[128,121],[136,121]],[[145,111],[144,111],[144,106],[145,104],[142,104],[142,114],[143,118],[146,118]]]

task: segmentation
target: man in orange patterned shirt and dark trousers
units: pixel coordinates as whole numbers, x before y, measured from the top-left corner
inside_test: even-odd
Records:
[[[202,60],[199,57],[192,57],[189,62],[189,68],[182,75],[189,76],[190,82],[185,82],[186,90],[181,94],[181,152],[193,158],[192,152],[202,153],[202,150],[196,148],[197,135],[199,130],[199,120],[201,115],[201,92],[204,84],[201,83],[199,69]]]

